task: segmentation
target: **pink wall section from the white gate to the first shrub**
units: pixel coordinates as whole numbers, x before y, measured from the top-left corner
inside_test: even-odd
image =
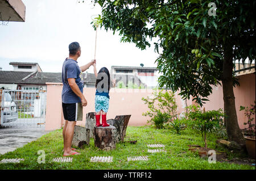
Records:
[[[61,128],[64,123],[61,108],[60,83],[47,83],[47,107],[46,107],[46,130],[51,131]],[[77,121],[77,125],[85,125],[85,117],[88,112],[95,112],[94,98],[95,88],[85,88],[84,96],[88,105],[84,107],[83,121]],[[117,115],[131,115],[128,125],[145,125],[147,117],[142,116],[146,112],[147,105],[144,104],[142,97],[152,94],[152,90],[139,89],[112,89],[110,90],[109,111],[107,119],[114,119]]]

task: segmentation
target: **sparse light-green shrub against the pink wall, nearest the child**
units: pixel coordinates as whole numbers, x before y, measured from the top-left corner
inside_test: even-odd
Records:
[[[143,113],[143,116],[149,116],[156,128],[164,128],[164,123],[177,118],[177,104],[174,93],[171,91],[155,90],[152,95],[142,98],[150,111]]]

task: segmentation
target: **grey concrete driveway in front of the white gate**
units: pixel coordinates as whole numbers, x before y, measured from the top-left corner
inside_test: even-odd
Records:
[[[46,133],[44,127],[0,127],[0,154],[14,151]]]

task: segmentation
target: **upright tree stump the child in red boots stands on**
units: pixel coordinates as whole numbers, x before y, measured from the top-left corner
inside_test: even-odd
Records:
[[[100,149],[112,150],[115,149],[117,140],[117,129],[110,125],[109,127],[94,128],[94,145]]]

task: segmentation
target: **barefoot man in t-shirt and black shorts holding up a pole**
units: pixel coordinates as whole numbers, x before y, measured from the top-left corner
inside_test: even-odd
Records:
[[[76,121],[82,121],[82,106],[87,105],[87,101],[82,95],[84,81],[82,72],[96,63],[96,60],[90,61],[88,64],[79,67],[77,59],[81,55],[81,47],[79,43],[73,42],[69,44],[69,57],[63,63],[62,68],[62,107],[65,124],[63,127],[64,154],[63,156],[80,154],[71,148],[74,128]]]

